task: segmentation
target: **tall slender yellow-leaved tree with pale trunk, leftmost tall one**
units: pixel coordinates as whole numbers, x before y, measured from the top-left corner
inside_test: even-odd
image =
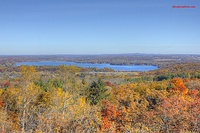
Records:
[[[33,84],[33,79],[36,76],[35,67],[20,66],[19,70],[21,73],[21,86],[17,97],[17,105],[19,108],[19,123],[21,132],[25,133],[26,130],[33,128],[30,126],[31,121],[33,120],[30,120],[29,116],[31,115],[31,110],[33,109],[33,102],[39,95],[40,88]]]

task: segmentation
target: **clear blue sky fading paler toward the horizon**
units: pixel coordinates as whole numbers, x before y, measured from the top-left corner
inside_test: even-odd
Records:
[[[199,7],[199,0],[0,0],[0,55],[200,54]]]

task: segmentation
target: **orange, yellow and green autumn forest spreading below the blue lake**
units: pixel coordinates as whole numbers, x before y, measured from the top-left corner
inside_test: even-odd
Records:
[[[13,60],[6,64],[6,58]],[[13,66],[19,59],[6,58],[0,65],[1,133],[200,132],[199,61],[163,58],[161,65],[159,58],[157,70],[102,73]]]

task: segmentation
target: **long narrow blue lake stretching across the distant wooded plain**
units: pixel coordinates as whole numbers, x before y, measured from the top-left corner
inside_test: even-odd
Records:
[[[16,64],[29,66],[59,66],[59,65],[73,65],[84,68],[111,68],[115,71],[150,71],[158,69],[157,66],[151,65],[110,65],[110,64],[92,64],[92,63],[76,63],[76,62],[55,62],[55,61],[41,61],[41,62],[20,62]]]

